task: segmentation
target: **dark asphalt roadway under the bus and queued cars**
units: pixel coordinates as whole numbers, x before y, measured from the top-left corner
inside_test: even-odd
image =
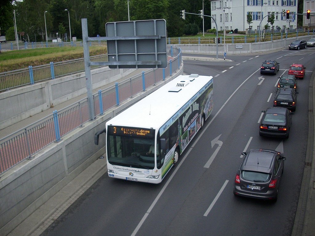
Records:
[[[184,61],[184,73],[214,76],[214,110],[161,184],[101,177],[42,235],[290,235],[305,165],[308,88],[315,49]],[[204,56],[204,55],[203,55]],[[280,71],[260,75],[265,59]],[[289,139],[258,133],[261,110],[272,106],[278,76],[306,66]],[[287,160],[276,203],[235,197],[243,151],[283,151]]]

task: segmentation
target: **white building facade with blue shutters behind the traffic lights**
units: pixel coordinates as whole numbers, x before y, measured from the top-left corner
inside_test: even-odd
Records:
[[[260,30],[270,23],[267,22],[269,14],[274,14],[275,20],[273,29],[295,29],[297,26],[297,0],[209,0],[211,5],[211,16],[215,19],[218,30],[226,31],[238,29],[246,31],[247,29]],[[283,11],[290,11],[290,17],[287,20]],[[293,13],[293,14],[291,14]],[[247,23],[247,14],[252,15],[252,22]],[[214,20],[211,26],[215,28]],[[262,20],[262,21],[261,21]],[[279,27],[279,28],[278,28]]]

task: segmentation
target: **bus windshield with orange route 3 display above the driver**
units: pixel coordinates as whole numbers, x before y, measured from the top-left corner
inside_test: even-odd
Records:
[[[124,129],[122,127],[113,128],[109,126],[107,132],[108,162],[112,165],[152,170],[155,166],[154,130],[148,130],[149,133],[146,133],[141,129],[139,133],[135,132],[134,128],[128,128],[124,132],[120,132]]]

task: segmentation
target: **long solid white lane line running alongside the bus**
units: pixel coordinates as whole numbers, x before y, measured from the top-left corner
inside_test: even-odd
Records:
[[[192,150],[192,148],[196,145],[196,143],[198,142],[199,138],[201,138],[201,136],[203,135],[203,133],[207,130],[207,128],[210,126],[210,124],[212,123],[212,121],[214,121],[215,117],[217,117],[217,115],[219,115],[220,111],[223,109],[223,107],[226,105],[226,103],[233,97],[233,95],[238,91],[238,89],[246,82],[249,80],[249,78],[251,76],[253,76],[259,69],[257,69],[253,74],[251,74],[250,76],[247,77],[246,80],[244,80],[236,89],[235,91],[230,95],[229,98],[227,98],[226,102],[221,106],[221,108],[217,111],[217,113],[212,117],[212,119],[209,121],[208,125],[206,127],[204,127],[203,131],[200,133],[200,135],[198,136],[198,138],[192,143],[192,146],[190,149],[188,149],[187,153],[183,156],[182,160],[180,161],[180,163],[177,165],[177,167],[175,168],[174,172],[172,173],[172,175],[169,177],[169,179],[167,180],[167,182],[165,183],[165,185],[163,186],[163,188],[161,189],[161,191],[159,192],[159,194],[157,195],[157,197],[154,199],[154,201],[152,202],[151,206],[149,207],[149,209],[146,211],[145,215],[142,217],[141,221],[139,222],[139,224],[137,225],[137,227],[135,228],[134,232],[132,232],[131,236],[135,236],[136,233],[138,232],[138,230],[140,229],[141,225],[143,224],[143,222],[146,220],[146,217],[148,216],[148,214],[152,211],[153,207],[155,206],[155,204],[157,203],[157,201],[160,199],[160,197],[162,196],[163,192],[165,191],[165,189],[167,188],[167,186],[169,185],[169,183],[171,182],[171,180],[173,179],[173,177],[175,176],[177,170],[180,168],[181,164],[184,162],[184,160],[186,159],[187,155],[190,153],[190,151]],[[211,210],[211,209],[210,209]]]

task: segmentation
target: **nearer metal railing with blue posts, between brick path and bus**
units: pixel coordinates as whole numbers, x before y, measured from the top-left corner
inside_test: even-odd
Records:
[[[119,105],[124,100],[144,91],[158,81],[165,80],[180,68],[181,49],[169,47],[167,68],[152,69],[116,83],[93,94],[95,117]],[[173,56],[175,55],[175,57]],[[0,140],[0,173],[17,163],[31,158],[39,150],[89,121],[87,98],[34,122]]]

